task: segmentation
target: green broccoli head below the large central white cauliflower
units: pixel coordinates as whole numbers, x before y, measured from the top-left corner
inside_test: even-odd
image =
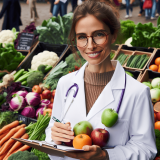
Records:
[[[40,71],[32,72],[27,78],[28,87],[33,87],[34,85],[39,85],[43,82],[44,74]]]

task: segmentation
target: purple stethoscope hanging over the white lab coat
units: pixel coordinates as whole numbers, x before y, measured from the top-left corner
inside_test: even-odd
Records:
[[[61,122],[63,121],[64,117],[66,116],[66,114],[67,114],[70,106],[71,106],[72,103],[74,102],[74,99],[76,98],[77,93],[78,93],[78,90],[79,90],[78,85],[77,85],[76,83],[74,83],[74,84],[67,90],[67,92],[66,92],[65,99],[64,99],[65,102],[66,102],[66,100],[67,100],[68,93],[70,92],[70,90],[71,90],[72,88],[76,88],[76,90],[74,90],[73,99],[72,99],[72,101],[70,102],[70,105],[68,106],[68,109],[67,109],[67,111],[65,112],[65,114],[64,114]],[[121,103],[122,103],[122,100],[123,100],[123,96],[124,96],[125,89],[126,89],[126,73],[125,73],[124,89],[122,89],[121,96],[120,96],[120,100],[119,100],[118,107],[117,107],[117,110],[116,110],[117,113],[119,113],[119,110],[120,110],[120,107],[121,107]]]

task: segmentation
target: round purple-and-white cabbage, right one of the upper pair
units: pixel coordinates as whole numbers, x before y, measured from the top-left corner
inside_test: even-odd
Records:
[[[36,92],[30,92],[26,95],[26,101],[30,106],[37,106],[39,105],[40,101],[41,101],[41,97],[38,93]]]

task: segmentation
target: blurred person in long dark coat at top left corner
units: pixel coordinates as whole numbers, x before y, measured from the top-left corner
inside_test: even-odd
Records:
[[[0,12],[0,19],[4,15],[4,21],[2,25],[2,30],[9,29],[13,27],[19,31],[19,26],[22,25],[21,22],[21,6],[19,0],[3,0],[3,7]]]

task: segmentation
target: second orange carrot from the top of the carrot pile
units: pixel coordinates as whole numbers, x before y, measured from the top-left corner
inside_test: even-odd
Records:
[[[22,124],[22,125],[20,125],[20,126],[17,126],[17,127],[15,127],[15,128],[12,128],[12,129],[9,131],[9,133],[8,133],[5,137],[3,137],[3,138],[1,139],[1,141],[0,141],[0,146],[2,146],[5,141],[7,141],[8,139],[10,139],[20,128],[22,128],[22,127],[24,127],[24,126],[26,126],[26,125],[25,125],[25,124]]]

